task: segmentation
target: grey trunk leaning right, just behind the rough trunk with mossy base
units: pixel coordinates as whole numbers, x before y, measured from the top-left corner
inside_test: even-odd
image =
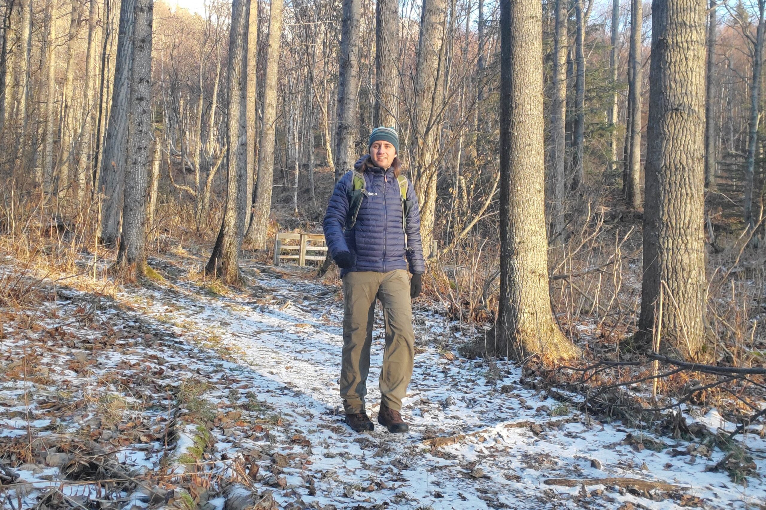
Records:
[[[119,5],[119,31],[117,34],[116,66],[112,107],[103,142],[99,190],[103,193],[101,205],[101,242],[114,246],[119,234],[119,213],[123,204],[123,181],[127,159],[128,113],[130,98],[130,72],[133,69],[133,28],[136,0],[122,0]]]

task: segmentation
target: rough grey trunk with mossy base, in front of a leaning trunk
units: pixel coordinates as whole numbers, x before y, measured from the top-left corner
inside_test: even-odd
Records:
[[[130,99],[125,172],[123,233],[119,237],[117,263],[133,265],[136,275],[146,270],[146,188],[152,165],[152,21],[154,0],[136,0],[133,29],[133,66],[130,73]]]

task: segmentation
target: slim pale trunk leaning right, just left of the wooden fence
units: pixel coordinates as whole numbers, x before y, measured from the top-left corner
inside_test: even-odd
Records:
[[[264,116],[263,135],[260,138],[258,152],[258,185],[253,211],[254,229],[253,248],[263,250],[266,247],[266,233],[271,214],[271,191],[274,177],[274,136],[277,129],[277,73],[280,60],[280,42],[282,37],[282,0],[271,0],[269,13],[269,50],[266,57],[266,76],[264,78]]]

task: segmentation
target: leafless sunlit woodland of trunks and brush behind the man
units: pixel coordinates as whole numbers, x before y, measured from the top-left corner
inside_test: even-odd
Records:
[[[509,176],[501,154],[514,153],[502,137],[513,131],[502,111],[516,103],[503,83],[525,74],[502,79],[514,69],[502,64],[502,34],[519,27],[503,30],[499,2],[211,0],[189,11],[151,0],[5,0],[2,250],[43,271],[130,283],[161,278],[152,257],[185,249],[209,257],[199,278],[241,285],[240,258],[270,260],[278,231],[319,232],[332,186],[366,152],[368,133],[397,126],[423,214],[429,302],[474,338],[463,351],[544,361],[585,352],[591,365],[564,370],[565,384],[596,387],[609,412],[604,387],[649,381],[650,409],[666,407],[658,393],[715,401],[744,429],[764,416],[763,386],[747,378],[762,376],[766,355],[764,3],[695,11],[705,51],[686,59],[700,77],[692,138],[704,136],[704,153],[678,170],[691,191],[652,195],[649,3],[542,3],[542,83],[528,90],[542,116],[524,126],[544,139],[531,139],[538,159]],[[514,202],[509,182],[534,184],[538,168],[545,207],[525,220],[542,254],[501,256],[508,211],[526,200]],[[665,208],[673,201],[682,211]],[[650,287],[646,234],[663,237],[647,230],[653,211],[667,213],[657,229],[676,224],[675,238],[695,248]],[[519,271],[537,271],[524,298],[538,314],[530,342],[517,335],[523,293],[512,295],[513,283],[523,278],[509,264],[532,259],[536,269]],[[5,302],[15,302],[7,288]],[[650,402],[631,398],[639,410]]]

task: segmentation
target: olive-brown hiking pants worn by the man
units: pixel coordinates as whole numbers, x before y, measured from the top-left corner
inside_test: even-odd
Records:
[[[385,321],[385,351],[380,376],[381,404],[401,410],[412,377],[415,334],[412,331],[410,279],[407,271],[358,271],[343,276],[343,352],[340,396],[347,414],[365,410],[370,371],[375,300]]]

